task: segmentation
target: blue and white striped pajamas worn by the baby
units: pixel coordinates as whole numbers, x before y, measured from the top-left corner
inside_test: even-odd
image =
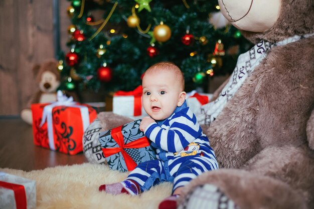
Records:
[[[157,159],[140,163],[126,178],[136,181],[141,191],[164,181],[174,182],[174,191],[201,173],[218,169],[209,140],[189,107],[162,125],[150,124],[144,134],[156,148]]]

